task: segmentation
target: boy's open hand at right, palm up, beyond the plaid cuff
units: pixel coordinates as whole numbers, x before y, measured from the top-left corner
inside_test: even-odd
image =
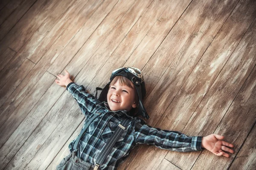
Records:
[[[226,156],[227,158],[230,157],[229,154],[225,153],[224,151],[234,153],[234,151],[228,147],[234,147],[233,144],[228,142],[222,141],[224,136],[211,134],[208,136],[203,137],[202,139],[202,147],[209,150],[210,152],[214,153],[217,156]],[[227,147],[226,147],[227,146]]]

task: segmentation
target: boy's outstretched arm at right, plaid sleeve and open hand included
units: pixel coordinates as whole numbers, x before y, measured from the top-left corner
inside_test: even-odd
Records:
[[[186,136],[177,131],[161,130],[141,122],[136,124],[133,136],[136,144],[149,144],[177,152],[198,151],[206,148],[217,156],[229,157],[229,154],[224,151],[234,153],[233,150],[228,148],[234,147],[233,144],[222,141],[224,136],[217,134],[205,137]]]

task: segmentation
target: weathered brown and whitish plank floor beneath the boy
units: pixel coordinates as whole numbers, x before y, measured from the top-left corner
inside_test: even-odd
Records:
[[[256,0],[1,0],[0,169],[52,170],[83,115],[55,84],[95,95],[111,71],[142,70],[149,125],[218,133],[226,158],[139,145],[119,170],[256,169]]]

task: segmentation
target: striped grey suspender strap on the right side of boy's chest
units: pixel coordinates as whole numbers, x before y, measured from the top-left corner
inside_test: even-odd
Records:
[[[97,170],[100,165],[103,164],[104,160],[108,156],[108,153],[111,151],[112,147],[116,143],[117,139],[121,136],[122,132],[125,130],[126,126],[129,123],[129,119],[123,119],[122,122],[118,125],[111,138],[108,139],[107,144],[103,147],[102,151],[96,158],[96,165],[93,170]]]

